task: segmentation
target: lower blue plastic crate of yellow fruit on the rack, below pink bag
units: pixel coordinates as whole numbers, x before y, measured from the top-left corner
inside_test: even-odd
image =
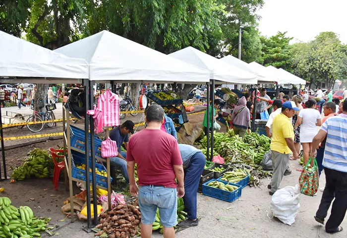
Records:
[[[86,163],[84,154],[81,154],[77,151],[75,151],[74,153],[71,153],[71,161],[72,161],[72,169],[71,169],[72,178],[85,181],[86,180],[86,171],[76,167],[77,165],[81,165],[81,164]],[[91,157],[89,157],[89,166],[90,167],[92,166],[91,164],[92,164]],[[101,164],[95,163],[95,168],[97,168],[100,171],[107,172],[105,166],[103,166]],[[107,188],[107,177],[104,177],[101,175],[95,175],[95,178],[96,178],[96,184],[97,185]],[[91,183],[92,182],[92,173],[90,173],[89,179],[90,179],[90,183]],[[110,179],[112,181],[112,177],[110,177]]]

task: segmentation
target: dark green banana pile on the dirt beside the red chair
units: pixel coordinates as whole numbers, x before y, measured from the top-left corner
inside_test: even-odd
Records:
[[[24,160],[23,165],[13,169],[12,179],[23,180],[34,176],[39,179],[44,179],[53,175],[54,163],[51,155],[39,148],[28,153],[28,157]]]

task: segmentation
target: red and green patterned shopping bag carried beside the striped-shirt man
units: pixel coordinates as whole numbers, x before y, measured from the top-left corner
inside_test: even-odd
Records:
[[[314,160],[313,167],[311,167],[311,160]],[[314,196],[318,191],[319,186],[319,174],[317,161],[314,158],[310,158],[301,172],[299,178],[299,185],[301,193],[307,196]]]

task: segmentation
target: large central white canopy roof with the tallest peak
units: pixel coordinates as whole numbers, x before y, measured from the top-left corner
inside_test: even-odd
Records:
[[[89,63],[89,79],[97,81],[208,82],[206,70],[108,31],[55,50]]]

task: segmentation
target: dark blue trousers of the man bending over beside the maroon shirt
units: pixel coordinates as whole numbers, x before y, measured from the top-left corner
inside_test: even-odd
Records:
[[[188,219],[196,219],[197,210],[197,192],[200,182],[200,177],[204,171],[206,159],[202,152],[198,152],[193,155],[184,171],[184,207],[185,211],[188,213]]]

